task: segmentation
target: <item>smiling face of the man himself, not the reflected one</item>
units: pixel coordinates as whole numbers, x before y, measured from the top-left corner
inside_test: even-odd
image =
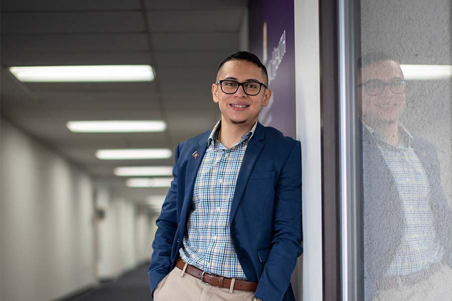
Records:
[[[267,84],[263,71],[255,64],[241,60],[231,60],[221,67],[217,80],[230,79],[237,82],[261,82]],[[212,85],[213,101],[218,103],[222,122],[232,124],[253,125],[262,106],[267,106],[271,91],[264,86],[257,95],[250,96],[243,87],[234,94],[226,94],[221,90],[220,84]]]

